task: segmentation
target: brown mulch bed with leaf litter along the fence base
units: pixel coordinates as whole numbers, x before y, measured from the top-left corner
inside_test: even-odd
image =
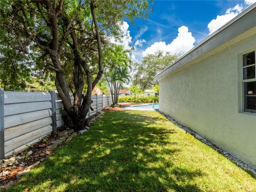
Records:
[[[57,133],[61,132],[62,129],[58,130]],[[0,177],[0,186],[5,185],[11,180],[17,180],[15,175],[18,172],[25,170],[28,166],[33,165],[38,161],[43,162],[44,159],[52,153],[52,151],[46,150],[46,147],[52,145],[52,141],[55,141],[57,139],[59,139],[57,134],[50,134],[49,136],[45,137],[44,141],[41,140],[35,143],[33,146],[27,148],[25,151],[21,151],[16,155],[27,156],[26,154],[28,153],[28,151],[31,150],[33,153],[30,156],[26,157],[23,162],[20,162],[19,164],[13,166],[0,167],[0,173],[5,171],[9,172],[8,175]],[[4,163],[2,163],[1,165],[3,164]]]

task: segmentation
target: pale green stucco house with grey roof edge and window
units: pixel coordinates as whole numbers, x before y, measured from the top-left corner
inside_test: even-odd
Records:
[[[155,76],[159,110],[256,167],[256,3]]]

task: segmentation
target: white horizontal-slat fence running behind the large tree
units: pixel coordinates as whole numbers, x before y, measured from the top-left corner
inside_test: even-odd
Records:
[[[71,97],[74,102],[74,97]],[[110,96],[92,95],[93,110],[86,118],[111,105]],[[13,92],[0,89],[0,159],[38,142],[64,124],[58,93]]]

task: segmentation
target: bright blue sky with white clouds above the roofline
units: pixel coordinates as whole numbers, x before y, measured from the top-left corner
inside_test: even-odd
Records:
[[[121,44],[135,47],[133,60],[159,50],[185,53],[255,1],[154,1],[145,21],[124,23]]]

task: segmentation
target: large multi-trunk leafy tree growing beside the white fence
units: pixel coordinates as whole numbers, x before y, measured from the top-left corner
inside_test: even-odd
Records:
[[[33,54],[35,72],[54,73],[65,111],[74,129],[81,129],[103,74],[108,37],[120,37],[123,19],[145,18],[147,10],[146,0],[1,1],[1,28],[21,52]]]

